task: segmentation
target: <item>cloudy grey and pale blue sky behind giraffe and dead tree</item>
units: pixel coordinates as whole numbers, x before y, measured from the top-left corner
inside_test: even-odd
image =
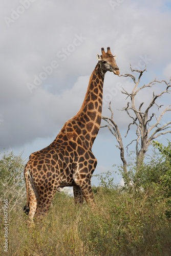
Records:
[[[79,111],[102,47],[106,51],[109,46],[117,55],[120,74],[131,73],[130,63],[135,69],[146,66],[141,86],[171,77],[171,1],[6,0],[1,3],[0,29],[0,151],[24,152],[26,161],[48,146]],[[127,103],[122,87],[131,92],[132,80],[106,73],[102,115],[111,115],[111,101],[126,146],[136,137],[133,129],[124,139],[131,120],[120,111]],[[163,87],[153,90],[159,93]],[[137,104],[147,105],[153,90],[137,95]],[[165,108],[170,95],[158,102]],[[170,113],[162,123],[168,121]],[[158,140],[166,144],[166,139],[170,135]],[[107,128],[100,129],[92,148],[98,161],[95,175],[122,164],[116,144]],[[121,182],[121,176],[112,177]],[[92,184],[98,185],[97,177]]]

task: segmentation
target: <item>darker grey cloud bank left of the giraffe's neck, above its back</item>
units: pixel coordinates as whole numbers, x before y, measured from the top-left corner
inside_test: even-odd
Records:
[[[6,105],[2,109],[4,122],[1,128],[5,135],[2,145],[22,146],[37,137],[52,136],[55,131],[57,135],[63,124],[79,111],[88,81],[87,76],[79,77],[71,89],[63,90],[59,95],[37,87],[32,94],[28,93],[26,102],[11,102],[12,108],[10,104]]]

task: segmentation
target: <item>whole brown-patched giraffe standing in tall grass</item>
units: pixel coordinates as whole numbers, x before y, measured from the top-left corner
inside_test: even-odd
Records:
[[[101,48],[80,110],[49,146],[30,155],[24,170],[24,211],[30,220],[46,214],[56,191],[65,186],[73,186],[75,204],[82,204],[83,198],[88,204],[95,204],[91,177],[97,160],[92,145],[100,129],[104,75],[107,71],[119,75],[115,58],[110,47],[107,52]]]

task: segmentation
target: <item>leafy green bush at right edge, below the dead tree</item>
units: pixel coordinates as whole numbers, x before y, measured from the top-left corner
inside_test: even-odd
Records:
[[[124,180],[124,174],[122,172]],[[153,142],[153,154],[148,156],[138,170],[136,166],[130,168],[128,172],[131,186],[128,186],[126,180],[123,189],[128,193],[134,193],[134,196],[141,194],[150,194],[153,202],[165,202],[165,215],[171,217],[171,144],[167,146],[161,143]],[[153,193],[152,193],[153,191]]]

